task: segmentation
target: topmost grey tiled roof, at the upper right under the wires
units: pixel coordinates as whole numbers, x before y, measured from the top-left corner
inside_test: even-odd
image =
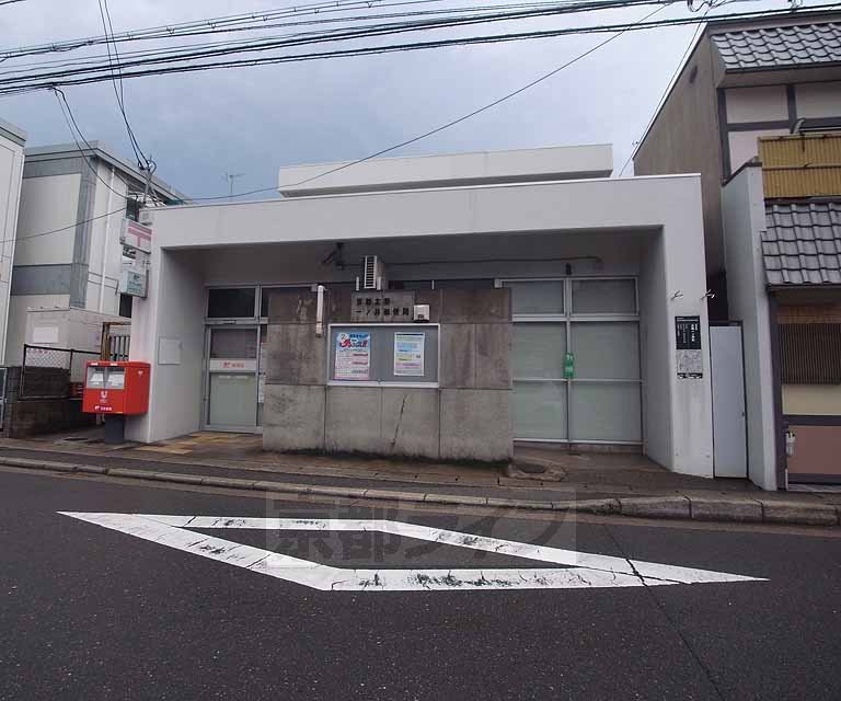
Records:
[[[841,24],[771,26],[713,34],[725,70],[841,62]]]

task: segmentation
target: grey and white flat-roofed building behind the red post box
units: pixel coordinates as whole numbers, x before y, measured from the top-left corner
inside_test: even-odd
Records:
[[[124,219],[137,218],[145,194],[147,206],[185,199],[157,177],[147,185],[143,172],[101,142],[90,147],[25,150],[7,365],[22,360],[30,309],[130,315],[130,298],[118,289]]]

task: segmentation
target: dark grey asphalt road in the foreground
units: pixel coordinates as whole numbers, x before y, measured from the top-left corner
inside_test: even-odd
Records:
[[[0,471],[0,699],[839,699],[841,539],[265,501]],[[389,518],[767,581],[330,591],[58,512]],[[196,529],[334,567],[546,567],[381,533]]]

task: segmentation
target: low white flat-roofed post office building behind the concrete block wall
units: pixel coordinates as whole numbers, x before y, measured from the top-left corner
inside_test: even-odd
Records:
[[[610,147],[596,146],[383,159],[313,179],[339,165],[281,169],[280,199],[151,212],[149,296],[135,302],[130,349],[152,364],[151,404],[128,438],[284,430],[278,405],[263,404],[276,397],[272,377],[265,387],[273,290],[353,289],[376,255],[392,290],[382,295],[510,289],[512,343],[498,353],[512,427],[503,413],[488,433],[624,446],[713,475],[696,175],[613,180]],[[451,375],[446,335],[430,391]],[[346,389],[331,372],[318,414],[327,424],[331,390]]]

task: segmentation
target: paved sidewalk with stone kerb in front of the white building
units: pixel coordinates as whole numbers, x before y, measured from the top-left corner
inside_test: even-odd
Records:
[[[838,492],[762,492],[745,480],[675,474],[640,455],[543,447],[516,449],[514,466],[502,469],[269,453],[260,436],[247,434],[197,433],[152,446],[107,446],[90,430],[0,440],[0,463],[333,497],[646,518],[837,526],[841,512]]]

